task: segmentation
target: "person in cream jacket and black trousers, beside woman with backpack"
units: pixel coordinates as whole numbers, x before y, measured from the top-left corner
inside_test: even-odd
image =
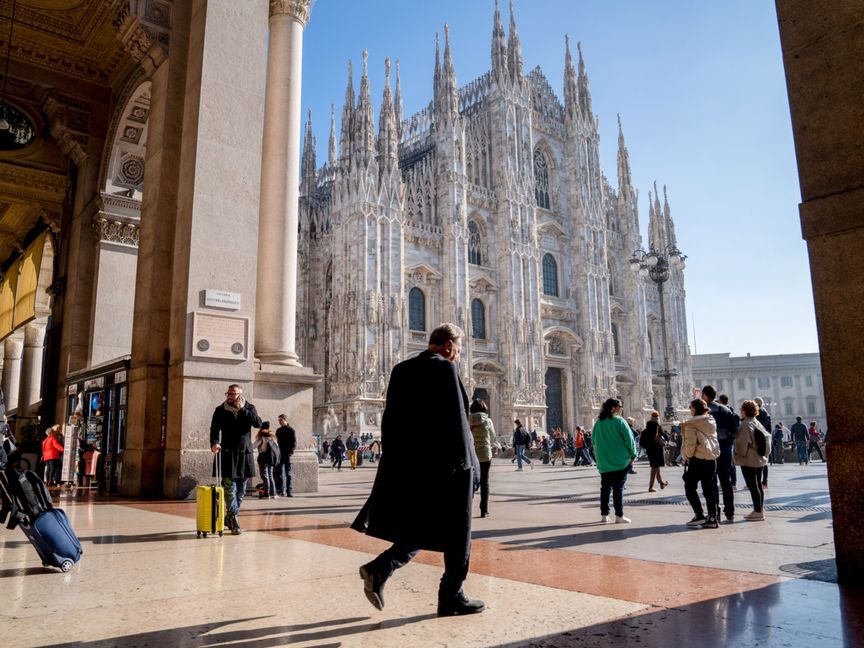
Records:
[[[717,440],[717,424],[708,413],[708,405],[701,398],[690,403],[691,419],[681,424],[681,457],[684,459],[684,493],[693,507],[693,519],[687,526],[717,528],[717,490],[714,477],[717,474],[717,457],[720,456],[720,442]],[[702,484],[702,495],[708,507],[708,517],[702,510],[702,502],[696,487]]]

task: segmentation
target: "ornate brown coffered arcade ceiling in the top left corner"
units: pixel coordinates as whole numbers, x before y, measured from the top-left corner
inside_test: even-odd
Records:
[[[0,0],[0,80],[9,51],[6,101],[34,136],[0,147],[0,274],[46,225],[58,231],[70,168],[101,158],[125,85],[154,45],[167,50],[171,0],[17,0],[10,47],[12,9]]]

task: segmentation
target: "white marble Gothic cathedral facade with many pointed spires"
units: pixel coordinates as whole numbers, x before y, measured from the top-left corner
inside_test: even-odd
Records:
[[[566,43],[563,102],[540,68],[523,70],[513,17],[496,7],[491,70],[456,82],[445,27],[432,101],[403,119],[390,62],[376,123],[366,54],[348,84],[328,159],[311,115],[302,155],[297,351],[323,374],[315,429],[379,431],[390,370],[440,322],[466,332],[460,372],[498,433],[591,427],[622,398],[637,420],[662,411],[659,293],[631,270],[634,251],[677,249],[665,188],[649,200],[643,246],[620,128],[617,186],[600,168],[581,48]],[[690,356],[684,277],[664,285],[673,402],[686,407]],[[434,398],[434,394],[429,395]],[[406,421],[407,425],[410,422]]]

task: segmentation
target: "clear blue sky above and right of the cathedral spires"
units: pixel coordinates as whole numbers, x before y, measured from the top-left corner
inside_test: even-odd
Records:
[[[349,58],[356,90],[369,51],[376,123],[384,59],[399,59],[407,117],[432,96],[435,33],[443,40],[445,22],[459,85],[489,69],[493,10],[493,0],[317,0],[304,36],[302,101],[304,114],[312,109],[319,163],[331,103],[339,128]],[[517,0],[515,11],[525,70],[539,65],[559,97],[564,34],[581,41],[603,168],[615,184],[620,113],[643,236],[648,191],[654,180],[668,186],[689,257],[691,352],[817,351],[774,3]]]

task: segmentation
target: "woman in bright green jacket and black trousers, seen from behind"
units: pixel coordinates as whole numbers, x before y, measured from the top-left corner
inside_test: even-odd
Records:
[[[615,507],[616,524],[629,524],[624,517],[624,483],[630,472],[630,464],[636,459],[636,443],[633,433],[621,417],[623,405],[617,398],[609,398],[600,409],[600,416],[591,430],[594,443],[594,460],[600,471],[600,521],[609,519],[609,493]]]

